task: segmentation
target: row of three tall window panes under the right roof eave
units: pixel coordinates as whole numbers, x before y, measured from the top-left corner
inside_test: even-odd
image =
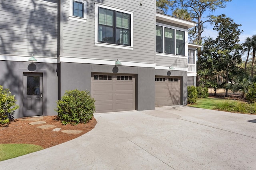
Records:
[[[156,26],[156,52],[185,55],[185,32]]]

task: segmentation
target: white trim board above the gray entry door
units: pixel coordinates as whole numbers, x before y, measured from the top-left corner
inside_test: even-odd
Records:
[[[11,54],[0,54],[0,60],[2,61],[22,61],[22,62],[31,62],[28,61],[32,56],[28,55],[11,55]],[[34,63],[58,63],[58,59],[56,57],[39,57],[35,56],[37,61],[33,61]]]

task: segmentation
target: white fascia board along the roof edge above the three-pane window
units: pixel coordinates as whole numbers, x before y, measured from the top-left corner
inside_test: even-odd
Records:
[[[165,14],[156,13],[156,19],[166,21],[166,22],[170,22],[170,23],[174,23],[174,24],[178,24],[178,25],[182,25],[182,26],[186,26],[188,28],[192,28],[192,27],[196,26],[195,22],[183,20],[183,19],[176,18],[176,17],[173,17],[173,16],[168,16],[168,15],[165,15]]]

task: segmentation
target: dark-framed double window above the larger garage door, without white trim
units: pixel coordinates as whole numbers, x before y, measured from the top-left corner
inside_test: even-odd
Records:
[[[99,7],[98,42],[131,46],[131,15]]]

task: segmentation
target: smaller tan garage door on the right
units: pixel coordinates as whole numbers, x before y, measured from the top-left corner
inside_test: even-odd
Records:
[[[156,77],[155,106],[180,105],[180,78]]]

